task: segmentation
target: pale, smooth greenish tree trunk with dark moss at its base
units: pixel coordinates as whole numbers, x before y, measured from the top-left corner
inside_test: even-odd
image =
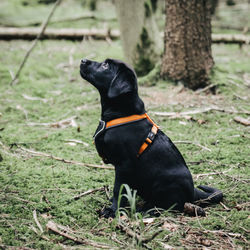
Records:
[[[161,39],[149,0],[115,0],[125,60],[138,75],[152,70],[160,59]]]

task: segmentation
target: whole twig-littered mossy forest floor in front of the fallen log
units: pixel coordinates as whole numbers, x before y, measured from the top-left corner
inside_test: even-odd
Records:
[[[39,42],[10,86],[29,47],[0,41],[0,249],[249,248],[249,46],[213,45],[216,94],[161,80],[139,86],[195,185],[222,190],[223,202],[206,217],[128,208],[113,220],[98,215],[110,205],[114,171],[92,144],[100,100],[79,62],[123,59],[121,43]]]

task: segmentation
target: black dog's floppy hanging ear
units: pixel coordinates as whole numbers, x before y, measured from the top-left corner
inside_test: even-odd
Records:
[[[134,71],[126,65],[122,65],[110,84],[108,97],[115,98],[133,92],[136,89],[136,86],[137,81]]]

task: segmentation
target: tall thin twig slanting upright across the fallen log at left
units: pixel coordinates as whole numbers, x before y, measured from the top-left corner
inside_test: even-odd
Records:
[[[20,73],[21,73],[21,70],[23,69],[23,67],[24,67],[24,65],[25,65],[25,63],[26,63],[26,61],[27,61],[27,59],[29,58],[29,55],[31,54],[32,50],[36,47],[38,41],[39,41],[40,38],[42,37],[42,35],[43,35],[45,29],[46,29],[47,26],[48,26],[48,23],[49,23],[49,21],[50,21],[52,15],[54,14],[54,12],[55,12],[57,6],[61,3],[61,1],[62,1],[62,0],[57,0],[57,1],[55,2],[54,6],[53,6],[53,8],[52,8],[52,10],[51,10],[51,12],[49,13],[49,16],[47,17],[47,19],[45,20],[45,22],[42,24],[40,33],[37,35],[36,39],[35,39],[35,40],[33,41],[33,43],[31,44],[29,50],[26,52],[26,55],[25,55],[25,57],[24,57],[24,59],[23,59],[21,65],[19,66],[19,69],[18,69],[17,73],[15,74],[14,78],[13,78],[12,81],[10,82],[10,85],[13,85],[13,84],[15,84],[15,83],[17,82],[18,77],[19,77],[19,75],[20,75]]]

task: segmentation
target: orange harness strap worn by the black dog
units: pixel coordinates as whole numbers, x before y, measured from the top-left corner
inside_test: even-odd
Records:
[[[142,115],[131,115],[131,116],[126,116],[126,117],[122,117],[122,118],[117,118],[111,121],[108,121],[106,124],[103,124],[103,128],[101,130],[104,129],[108,129],[108,128],[112,128],[112,127],[116,127],[116,126],[121,126],[121,125],[125,125],[131,122],[136,122],[136,121],[140,121],[143,119],[147,119],[150,123],[152,123],[152,129],[149,132],[145,142],[143,142],[143,144],[141,145],[137,157],[139,157],[145,150],[146,148],[153,143],[153,140],[155,138],[155,135],[157,134],[158,131],[158,126],[152,121],[152,119],[148,116],[147,113],[142,114]]]

